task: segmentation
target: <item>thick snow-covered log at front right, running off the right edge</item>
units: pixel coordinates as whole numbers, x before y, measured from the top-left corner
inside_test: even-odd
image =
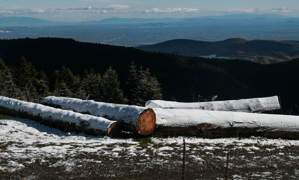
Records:
[[[299,116],[153,108],[154,135],[299,139]]]

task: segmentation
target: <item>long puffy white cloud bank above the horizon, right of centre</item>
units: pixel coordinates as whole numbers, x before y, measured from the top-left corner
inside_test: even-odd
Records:
[[[143,13],[159,13],[159,14],[173,14],[173,13],[199,13],[196,8],[166,8],[166,9],[146,9]]]

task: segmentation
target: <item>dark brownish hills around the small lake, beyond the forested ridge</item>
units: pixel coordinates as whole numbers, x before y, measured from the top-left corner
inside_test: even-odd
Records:
[[[169,40],[137,49],[166,52],[184,56],[239,58],[260,63],[276,63],[299,57],[299,41],[245,40],[231,38],[224,41]]]

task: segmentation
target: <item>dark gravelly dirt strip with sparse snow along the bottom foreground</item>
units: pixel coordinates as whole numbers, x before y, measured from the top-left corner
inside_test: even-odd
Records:
[[[141,147],[147,149],[147,145],[141,144]],[[154,146],[163,147],[159,144]],[[1,153],[5,152],[6,146],[0,147]],[[24,164],[22,169],[14,172],[2,170],[0,176],[1,179],[181,179],[182,146],[169,147],[173,148],[167,150],[170,155],[147,151],[149,156],[127,157],[128,152],[123,151],[116,157],[98,152],[70,154],[65,158],[45,157],[44,162],[36,159],[34,163]],[[224,179],[226,151],[230,155],[228,179],[299,179],[298,146],[256,146],[259,149],[252,149],[250,153],[243,148],[234,149],[238,147],[234,145],[223,147],[218,144],[219,149],[207,148],[205,151],[195,144],[187,144],[187,147],[186,179]],[[198,155],[203,161],[190,158],[193,155]],[[53,166],[66,159],[74,163],[71,170],[63,165]],[[1,164],[5,163],[10,163],[9,159],[1,159]]]

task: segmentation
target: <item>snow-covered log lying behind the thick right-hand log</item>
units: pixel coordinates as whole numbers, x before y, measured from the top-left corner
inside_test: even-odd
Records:
[[[279,96],[213,102],[172,102],[151,100],[147,108],[198,109],[210,111],[234,111],[246,113],[282,114]]]

